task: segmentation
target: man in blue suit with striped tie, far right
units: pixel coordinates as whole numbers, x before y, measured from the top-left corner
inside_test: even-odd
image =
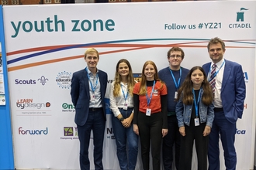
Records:
[[[223,58],[225,43],[219,38],[208,43],[208,53],[212,62],[202,66],[208,74],[213,88],[214,121],[209,134],[209,170],[220,170],[219,139],[224,150],[227,170],[235,170],[237,154],[234,147],[237,118],[242,118],[245,99],[245,83],[242,66]]]

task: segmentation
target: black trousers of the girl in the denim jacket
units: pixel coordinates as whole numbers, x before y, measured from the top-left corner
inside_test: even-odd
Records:
[[[194,121],[194,120],[191,120]],[[197,155],[198,170],[207,169],[207,152],[209,136],[202,136],[206,123],[199,126],[185,125],[185,136],[181,138],[181,152],[179,170],[190,170],[192,164],[192,151],[195,140],[195,150]]]

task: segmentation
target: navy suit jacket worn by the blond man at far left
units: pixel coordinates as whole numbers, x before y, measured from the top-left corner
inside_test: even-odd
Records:
[[[108,82],[107,73],[99,70],[100,91],[102,97],[103,114],[106,120],[105,93]],[[87,71],[80,70],[73,73],[71,80],[71,99],[75,107],[74,122],[80,126],[85,125],[88,118],[90,93]]]

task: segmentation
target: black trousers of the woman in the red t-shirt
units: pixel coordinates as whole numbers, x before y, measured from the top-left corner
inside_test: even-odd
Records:
[[[139,112],[138,127],[140,134],[141,159],[144,170],[150,169],[150,143],[153,169],[161,169],[161,140],[162,140],[162,114],[161,112],[146,116]]]

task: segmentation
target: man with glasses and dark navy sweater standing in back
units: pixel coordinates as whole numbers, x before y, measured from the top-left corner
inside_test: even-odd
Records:
[[[182,85],[189,70],[181,66],[185,53],[179,47],[172,47],[167,53],[169,66],[160,70],[158,76],[164,81],[168,88],[168,134],[163,139],[162,153],[164,169],[171,170],[173,162],[172,148],[175,143],[175,166],[178,170],[180,138],[178,131],[178,121],[176,118],[175,107],[177,102],[178,88]]]

